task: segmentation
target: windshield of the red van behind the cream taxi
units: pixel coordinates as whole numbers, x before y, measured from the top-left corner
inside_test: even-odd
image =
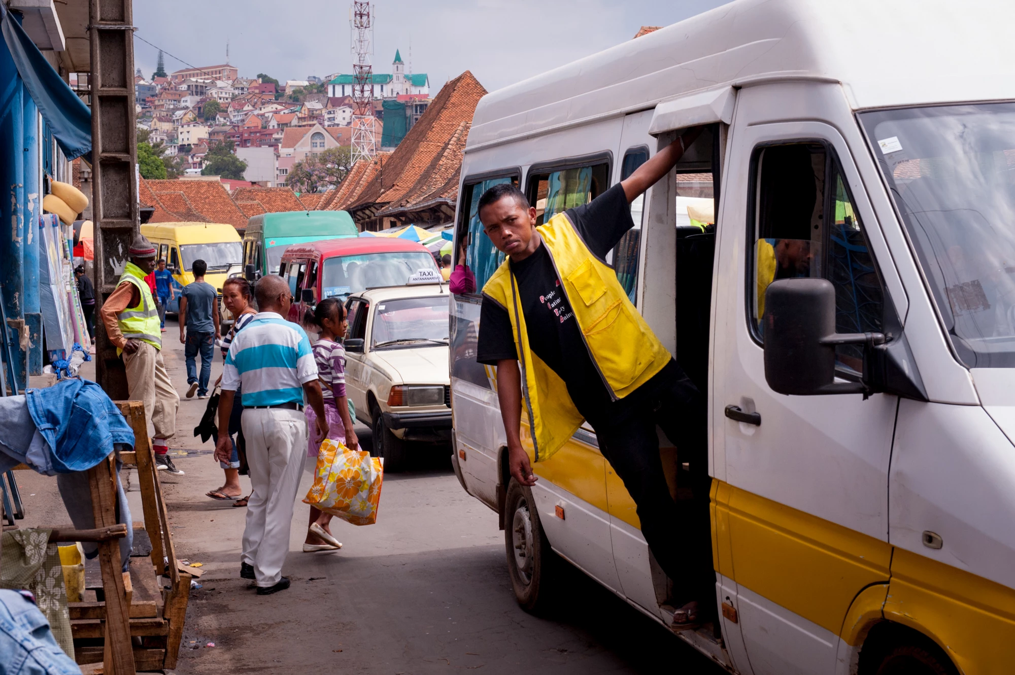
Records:
[[[345,297],[368,288],[439,279],[441,271],[433,256],[424,250],[341,255],[324,261],[321,297]]]

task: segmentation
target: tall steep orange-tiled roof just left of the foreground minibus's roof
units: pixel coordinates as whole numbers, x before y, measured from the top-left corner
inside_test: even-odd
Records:
[[[366,181],[350,200],[350,209],[383,209],[388,204],[398,204],[405,199],[424,173],[437,168],[434,158],[448,147],[452,137],[461,134],[463,123],[471,123],[476,104],[485,94],[486,89],[469,71],[445,84],[419,122],[385,162],[379,179]],[[460,154],[458,163],[461,163]],[[435,180],[444,182],[446,179],[447,175]],[[418,192],[421,194],[424,189],[420,188]]]

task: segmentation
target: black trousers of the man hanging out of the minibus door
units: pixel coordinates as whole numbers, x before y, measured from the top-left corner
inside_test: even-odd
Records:
[[[591,421],[590,421],[591,422]],[[605,423],[605,424],[603,424]],[[674,502],[663,472],[656,426],[677,448],[678,483],[693,500]],[[600,452],[637,505],[641,534],[674,583],[678,603],[714,594],[704,397],[683,372],[623,420],[594,424]],[[687,462],[689,471],[680,464]]]

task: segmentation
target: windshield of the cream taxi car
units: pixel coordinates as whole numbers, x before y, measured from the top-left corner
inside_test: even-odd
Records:
[[[447,344],[447,295],[378,303],[370,336],[373,348],[432,347]]]

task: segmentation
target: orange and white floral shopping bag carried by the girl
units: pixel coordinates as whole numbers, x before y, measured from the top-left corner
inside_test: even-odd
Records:
[[[325,439],[318,451],[314,484],[303,503],[353,525],[373,525],[383,480],[384,465],[379,458]]]

